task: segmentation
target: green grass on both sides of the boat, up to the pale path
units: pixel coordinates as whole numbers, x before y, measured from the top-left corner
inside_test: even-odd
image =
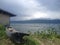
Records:
[[[35,41],[31,36],[25,37],[24,44],[13,43],[5,33],[5,27],[0,25],[0,45],[38,45],[38,42]]]

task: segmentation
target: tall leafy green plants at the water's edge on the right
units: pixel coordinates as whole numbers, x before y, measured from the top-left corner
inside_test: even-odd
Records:
[[[34,33],[34,36],[35,35],[38,38],[51,39],[51,40],[54,40],[55,38],[59,38],[60,37],[57,34],[57,32],[55,31],[55,28],[49,28],[49,29],[41,31],[41,32],[37,31],[37,32]]]

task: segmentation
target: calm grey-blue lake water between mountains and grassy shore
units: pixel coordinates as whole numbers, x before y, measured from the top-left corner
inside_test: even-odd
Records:
[[[22,33],[29,33],[29,31],[36,32],[36,31],[42,31],[47,30],[49,28],[55,28],[58,33],[60,33],[60,24],[20,24],[15,23],[11,24],[13,28],[15,28],[17,31],[20,31]]]

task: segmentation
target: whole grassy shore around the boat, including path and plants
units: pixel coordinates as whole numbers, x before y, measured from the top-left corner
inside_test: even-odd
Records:
[[[60,35],[57,34],[54,28],[45,31],[37,31],[30,36],[23,37],[24,44],[13,43],[5,33],[5,27],[0,25],[0,45],[60,45]]]

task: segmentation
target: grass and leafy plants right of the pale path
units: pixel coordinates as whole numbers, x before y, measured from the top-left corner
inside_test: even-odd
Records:
[[[60,45],[60,35],[54,28],[41,32],[37,31],[32,37],[40,40],[41,45]]]

